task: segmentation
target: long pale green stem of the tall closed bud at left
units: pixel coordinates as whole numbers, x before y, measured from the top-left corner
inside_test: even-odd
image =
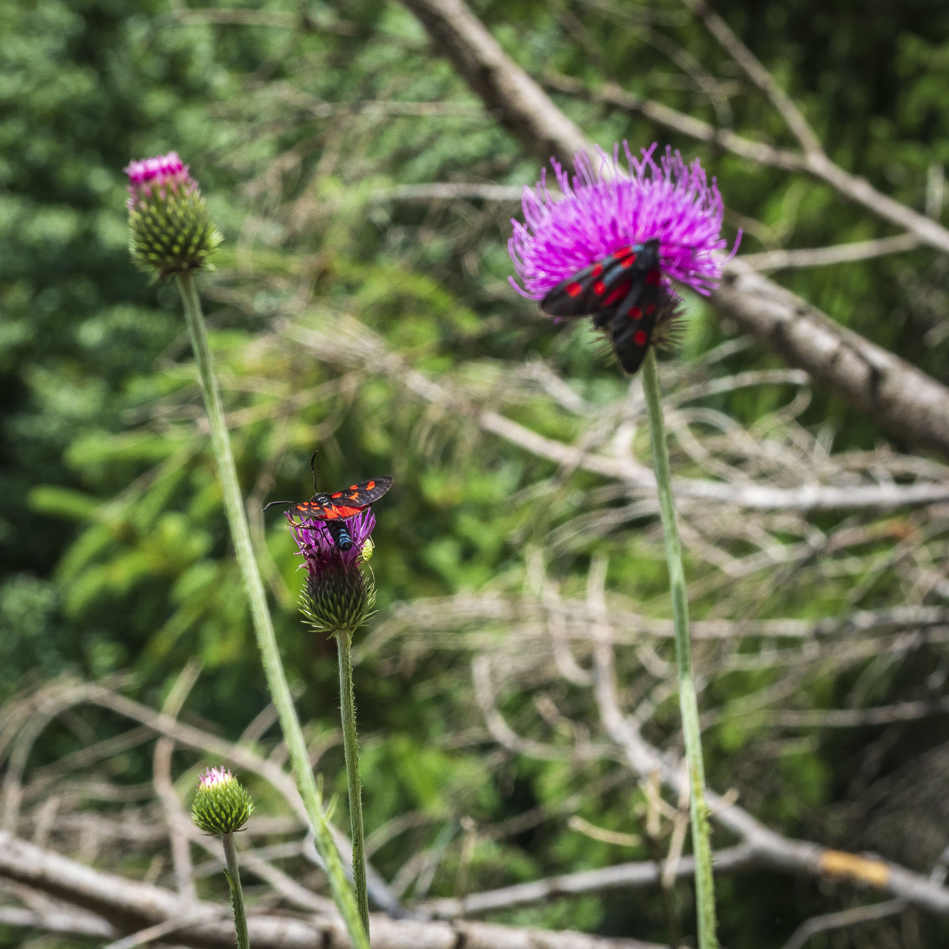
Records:
[[[267,594],[260,578],[260,570],[251,547],[251,530],[247,523],[247,513],[244,510],[244,501],[241,497],[240,486],[237,483],[237,472],[234,469],[231,441],[228,437],[224,422],[224,410],[221,406],[221,397],[217,391],[217,381],[214,378],[214,363],[211,359],[211,350],[208,347],[208,334],[204,326],[204,317],[201,313],[201,302],[197,296],[194,278],[190,273],[177,276],[178,289],[181,292],[181,301],[184,304],[185,319],[188,323],[188,333],[195,350],[195,363],[201,380],[201,390],[204,395],[204,406],[208,413],[208,423],[211,427],[211,444],[214,449],[214,458],[217,462],[217,476],[221,482],[221,491],[224,495],[224,508],[228,515],[231,527],[234,553],[244,578],[244,586],[248,599],[251,602],[251,616],[253,628],[260,648],[260,656],[264,665],[264,674],[270,687],[270,696],[280,718],[280,727],[287,742],[293,773],[297,787],[307,809],[310,823],[313,827],[314,842],[317,851],[326,865],[326,875],[329,886],[341,915],[349,930],[350,939],[355,949],[369,949],[369,937],[360,917],[359,908],[353,896],[353,891],[346,880],[340,852],[333,840],[332,830],[326,818],[326,810],[320,790],[316,785],[316,778],[309,764],[307,742],[300,728],[296,709],[293,707],[293,698],[290,696],[287,675],[280,660],[277,649],[277,639],[273,633],[273,623],[270,621],[270,609],[267,605]]]

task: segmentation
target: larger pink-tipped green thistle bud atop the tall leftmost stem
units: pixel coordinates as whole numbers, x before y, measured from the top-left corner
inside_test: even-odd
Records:
[[[156,278],[209,270],[221,233],[177,152],[133,161],[125,173],[128,247],[136,265]]]

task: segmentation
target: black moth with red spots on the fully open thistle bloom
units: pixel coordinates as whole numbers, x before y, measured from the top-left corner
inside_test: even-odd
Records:
[[[657,320],[672,300],[662,287],[659,239],[621,247],[548,291],[550,316],[591,316],[630,375],[642,365]]]

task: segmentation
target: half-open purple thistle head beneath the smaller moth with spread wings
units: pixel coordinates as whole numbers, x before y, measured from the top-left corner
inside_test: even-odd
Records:
[[[370,534],[376,518],[370,509],[332,522],[297,522],[288,514],[307,569],[300,611],[316,632],[352,633],[372,615],[376,587],[361,565],[372,555]],[[341,542],[346,549],[341,549]]]

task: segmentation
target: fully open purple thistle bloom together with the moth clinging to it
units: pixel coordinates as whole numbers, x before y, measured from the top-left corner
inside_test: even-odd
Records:
[[[628,176],[619,145],[612,160],[597,150],[609,175],[580,154],[571,180],[551,159],[563,196],[550,194],[542,171],[524,189],[524,223],[512,220],[508,243],[524,285],[512,277],[512,287],[557,321],[590,316],[630,375],[651,344],[674,340],[680,300],[672,280],[709,293],[721,276],[717,251],[727,246],[715,179],[708,184],[698,158],[686,165],[666,148],[657,163],[655,150],[653,143],[636,159],[623,142]]]

